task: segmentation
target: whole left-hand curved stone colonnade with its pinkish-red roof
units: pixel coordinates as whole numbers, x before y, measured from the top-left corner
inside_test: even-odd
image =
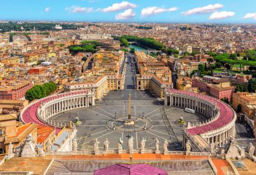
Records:
[[[59,133],[63,124],[50,122],[49,118],[51,116],[75,108],[87,108],[89,105],[94,106],[94,100],[94,92],[89,90],[55,94],[30,103],[22,110],[20,119],[24,123],[35,122],[39,125],[56,127],[55,131]]]

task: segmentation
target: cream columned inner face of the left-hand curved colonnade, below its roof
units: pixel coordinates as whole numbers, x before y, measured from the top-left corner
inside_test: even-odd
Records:
[[[68,96],[63,98],[57,98],[42,104],[38,108],[39,117],[42,120],[47,120],[51,116],[64,112],[66,110],[72,110],[75,108],[87,108],[88,106],[94,106],[94,94],[84,94],[77,96]]]

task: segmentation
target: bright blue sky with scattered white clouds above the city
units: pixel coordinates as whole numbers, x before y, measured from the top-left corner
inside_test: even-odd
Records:
[[[256,0],[8,0],[0,4],[0,20],[256,24]]]

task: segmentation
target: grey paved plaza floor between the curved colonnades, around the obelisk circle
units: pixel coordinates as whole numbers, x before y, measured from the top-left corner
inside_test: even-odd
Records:
[[[170,106],[163,107],[155,104],[152,100],[132,100],[131,101],[131,116],[146,122],[151,122],[150,128],[142,131],[133,131],[139,126],[126,126],[126,130],[117,131],[113,127],[108,126],[108,122],[116,118],[127,116],[127,101],[108,101],[102,102],[100,105],[90,106],[89,108],[80,108],[71,110],[54,116],[52,119],[56,121],[75,120],[78,116],[82,121],[81,125],[77,125],[77,143],[78,150],[93,150],[94,139],[100,141],[100,147],[103,149],[103,142],[107,138],[110,142],[110,149],[118,149],[118,139],[123,138],[124,149],[128,149],[127,143],[130,136],[134,138],[134,148],[140,148],[142,138],[146,139],[146,147],[154,149],[155,139],[158,138],[160,146],[164,139],[169,142],[168,149],[181,150],[181,142],[183,139],[183,125],[177,124],[181,115],[190,122],[199,122],[205,120],[203,116],[189,114],[180,108],[172,108]],[[114,102],[114,103],[113,103]],[[166,116],[164,116],[164,113]],[[140,125],[140,124],[138,124]],[[143,124],[142,124],[143,125]],[[131,130],[130,130],[131,129]],[[160,147],[162,149],[162,147]]]

